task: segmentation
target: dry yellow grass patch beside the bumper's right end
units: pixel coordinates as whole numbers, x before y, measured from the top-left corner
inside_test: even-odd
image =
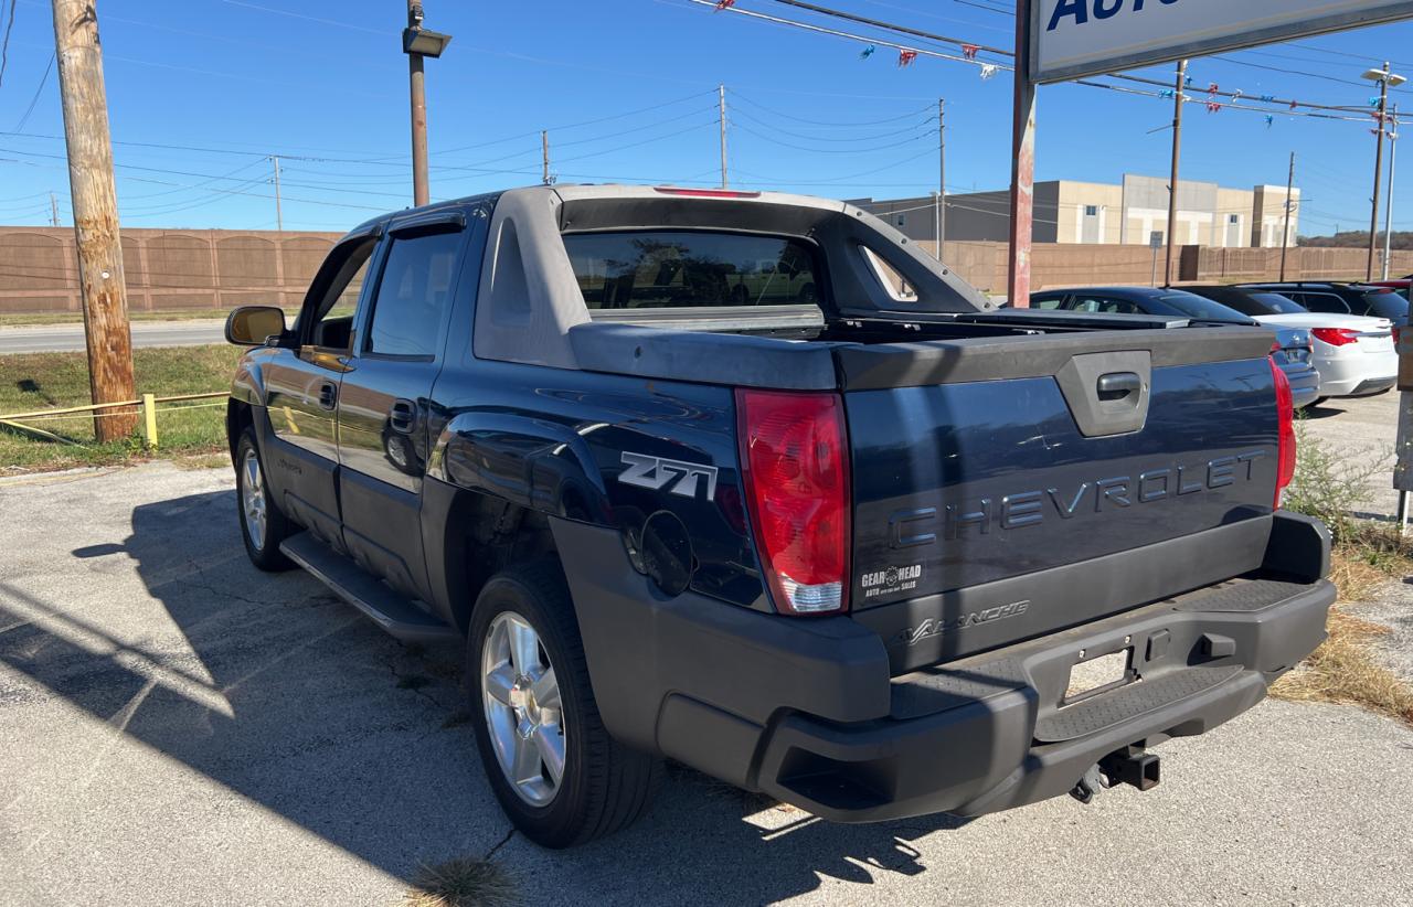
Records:
[[[1362,538],[1361,538],[1362,537]],[[1340,603],[1330,610],[1330,639],[1294,671],[1270,688],[1270,695],[1297,702],[1359,705],[1413,725],[1413,684],[1385,667],[1375,650],[1389,629],[1347,610],[1390,576],[1413,574],[1407,543],[1382,527],[1368,528],[1335,547],[1330,579]]]

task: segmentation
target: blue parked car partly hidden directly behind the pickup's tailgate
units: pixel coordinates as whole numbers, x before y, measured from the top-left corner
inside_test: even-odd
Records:
[[[1181,290],[1152,287],[1087,287],[1050,290],[1030,295],[1030,307],[1074,312],[1116,312],[1170,315],[1193,322],[1255,325],[1259,324],[1215,300]],[[1272,360],[1290,381],[1296,408],[1304,408],[1320,398],[1320,372],[1311,355],[1310,332],[1303,328],[1273,325],[1276,342],[1270,346]]]

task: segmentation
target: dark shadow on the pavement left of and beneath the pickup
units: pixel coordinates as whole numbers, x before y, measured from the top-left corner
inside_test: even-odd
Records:
[[[0,582],[0,663],[403,879],[499,846],[533,900],[640,901],[668,886],[687,901],[762,903],[825,877],[921,873],[909,841],[964,824],[829,825],[678,769],[649,817],[609,841],[551,853],[507,838],[462,704],[461,651],[404,647],[309,576],[260,574],[235,513],[233,492],[143,504],[126,538],[72,551],[75,583],[136,571],[150,595],[112,602],[107,619],[92,598]]]

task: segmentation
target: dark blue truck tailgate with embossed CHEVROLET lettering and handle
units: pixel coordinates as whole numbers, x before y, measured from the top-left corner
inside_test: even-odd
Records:
[[[901,671],[1255,569],[1269,349],[1186,328],[841,350],[855,619]]]

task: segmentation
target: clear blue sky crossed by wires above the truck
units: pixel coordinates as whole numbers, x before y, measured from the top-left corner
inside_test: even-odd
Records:
[[[0,8],[8,4],[0,3]],[[425,27],[452,35],[427,61],[434,199],[540,181],[540,130],[561,182],[715,185],[716,86],[726,86],[733,188],[834,198],[928,195],[938,181],[937,100],[947,102],[947,191],[1009,181],[1010,73],[883,44],[715,11],[692,0],[425,0]],[[824,6],[964,42],[1010,48],[1003,0],[832,0]],[[42,225],[55,194],[69,215],[48,0],[16,0],[0,73],[0,223]],[[954,57],[773,0],[738,10]],[[130,227],[274,229],[271,157],[284,229],[343,230],[411,198],[403,0],[97,0],[119,215]],[[1393,61],[1413,76],[1413,23],[1194,59],[1183,177],[1283,185],[1296,153],[1300,232],[1368,229],[1376,88]],[[1403,57],[1405,59],[1399,59]],[[1135,71],[1170,83],[1173,66]],[[1166,177],[1173,102],[1161,88],[1096,79],[1043,86],[1037,179]],[[1208,85],[1361,112],[1348,120],[1205,109]],[[1392,93],[1413,112],[1413,88]],[[1259,106],[1259,105],[1258,105]],[[1413,158],[1406,167],[1413,168]],[[1413,170],[1396,184],[1395,229],[1413,229]],[[1381,215],[1382,227],[1382,215]]]

